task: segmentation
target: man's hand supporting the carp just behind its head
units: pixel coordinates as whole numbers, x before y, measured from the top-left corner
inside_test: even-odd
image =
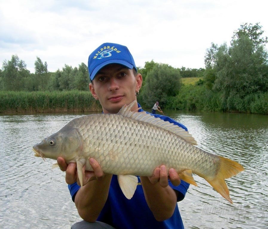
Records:
[[[58,157],[57,159],[58,165],[60,170],[65,171],[65,181],[67,184],[71,185],[74,182],[77,182],[78,185],[80,185],[78,174],[77,174],[77,167],[76,163],[70,163],[69,165],[66,164],[64,158]],[[86,171],[85,165],[82,168],[83,172],[83,185],[87,184],[91,180],[100,180],[104,173],[102,171],[102,168],[100,167],[99,163],[94,158],[89,158],[89,163],[91,167],[93,168],[93,171]]]

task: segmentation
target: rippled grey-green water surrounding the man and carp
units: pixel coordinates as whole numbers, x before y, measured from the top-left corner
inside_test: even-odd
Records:
[[[179,202],[185,228],[268,228],[268,115],[175,112],[198,147],[241,163],[227,180],[233,204],[194,175]],[[0,115],[0,228],[71,228],[81,220],[65,173],[32,146],[82,114]]]

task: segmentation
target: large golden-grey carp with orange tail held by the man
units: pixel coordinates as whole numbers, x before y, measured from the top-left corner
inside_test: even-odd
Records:
[[[33,146],[35,156],[76,163],[82,187],[82,167],[93,171],[94,157],[103,172],[118,175],[122,192],[133,196],[136,176],[150,177],[155,168],[174,168],[180,178],[196,185],[192,173],[209,182],[232,203],[225,179],[244,168],[239,163],[197,148],[195,139],[183,128],[146,112],[132,111],[137,101],[117,114],[94,114],[74,118],[58,131]]]

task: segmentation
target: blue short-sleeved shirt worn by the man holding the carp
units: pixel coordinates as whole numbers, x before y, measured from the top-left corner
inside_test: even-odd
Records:
[[[138,104],[140,107],[140,104]],[[142,109],[139,112],[143,111]],[[180,126],[181,128],[187,128],[183,124],[176,122],[170,117],[163,115],[154,115],[170,123]],[[181,180],[180,185],[174,186],[169,181],[169,186],[174,190],[177,190],[179,195],[177,201],[184,199],[184,196],[189,188],[189,184]],[[80,186],[75,182],[72,185],[68,185],[70,194],[74,201],[76,192],[79,190]],[[157,201],[157,200],[156,200]],[[183,222],[180,216],[179,208],[176,205],[173,215],[162,222],[155,220],[153,213],[149,209],[145,196],[143,193],[143,188],[140,183],[140,177],[138,177],[137,189],[131,199],[127,199],[122,193],[120,186],[117,181],[117,176],[113,175],[111,180],[111,185],[109,189],[109,194],[107,201],[97,218],[97,221],[105,222],[114,228],[176,228],[181,229],[183,227]]]

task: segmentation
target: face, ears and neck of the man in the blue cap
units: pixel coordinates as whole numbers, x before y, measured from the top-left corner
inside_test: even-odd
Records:
[[[109,64],[99,70],[89,89],[99,100],[104,113],[117,113],[125,104],[136,100],[135,92],[140,90],[142,76],[133,73],[120,64]]]

